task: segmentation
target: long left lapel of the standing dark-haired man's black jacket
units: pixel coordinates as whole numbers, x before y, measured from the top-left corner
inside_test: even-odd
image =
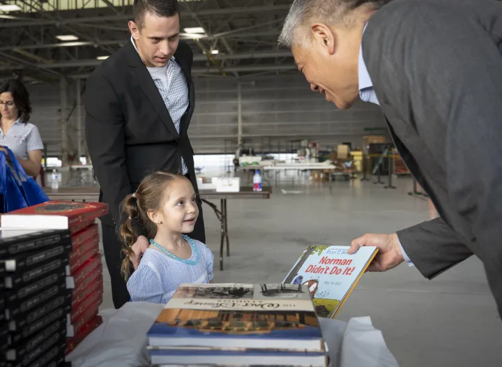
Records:
[[[155,82],[153,82],[149,71],[146,69],[146,66],[144,65],[142,59],[139,57],[139,54],[137,54],[137,51],[135,50],[135,47],[132,45],[130,40],[126,47],[129,47],[130,49],[129,66],[131,67],[132,76],[139,84],[139,87],[141,87],[141,89],[144,91],[146,97],[149,98],[151,104],[153,105],[153,108],[155,108],[157,113],[160,115],[160,118],[165,123],[165,126],[167,126],[169,133],[171,133],[172,136],[178,139],[179,135],[176,131],[176,128],[174,127],[171,115],[169,114],[164,100],[162,99],[162,96],[160,96],[158,88],[155,85]]]

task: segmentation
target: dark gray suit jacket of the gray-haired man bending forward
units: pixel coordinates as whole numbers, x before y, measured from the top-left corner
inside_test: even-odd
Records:
[[[502,3],[394,0],[363,36],[390,133],[441,218],[398,232],[427,278],[480,258],[502,315]]]

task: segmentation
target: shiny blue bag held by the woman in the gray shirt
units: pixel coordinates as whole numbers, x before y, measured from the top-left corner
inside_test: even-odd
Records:
[[[10,163],[6,154],[0,152],[0,211],[9,211],[31,207],[48,202],[50,199],[34,179],[24,172],[21,163],[7,147]]]

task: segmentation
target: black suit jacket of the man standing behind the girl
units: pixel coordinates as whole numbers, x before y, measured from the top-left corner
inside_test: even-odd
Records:
[[[86,140],[101,187],[100,200],[109,204],[110,215],[102,218],[107,225],[120,223],[120,203],[148,173],[181,172],[182,156],[197,190],[194,151],[187,135],[195,105],[190,71],[193,53],[180,41],[174,57],[190,93],[190,106],[181,118],[179,134],[131,40],[98,66],[86,82]],[[201,228],[202,233],[194,238],[204,242],[203,223]]]

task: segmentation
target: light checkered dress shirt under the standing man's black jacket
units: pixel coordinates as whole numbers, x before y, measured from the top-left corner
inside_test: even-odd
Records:
[[[131,42],[137,52],[137,47],[132,37]],[[174,127],[179,134],[181,117],[183,117],[183,114],[188,110],[190,100],[188,98],[188,84],[185,75],[183,75],[183,70],[181,70],[181,66],[176,62],[174,56],[167,64],[167,85],[164,85],[162,80],[156,77],[152,77],[152,79],[157,86],[160,96],[162,96],[162,100],[164,100],[167,111],[169,111],[169,115],[174,123]],[[185,165],[183,157],[181,157],[181,170],[183,174],[188,173],[188,168]]]

